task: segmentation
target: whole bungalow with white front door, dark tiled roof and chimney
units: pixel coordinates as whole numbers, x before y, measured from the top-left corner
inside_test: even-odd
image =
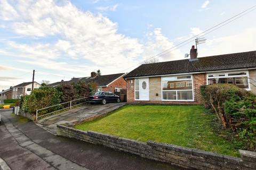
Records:
[[[256,94],[256,51],[142,64],[126,74],[127,101],[202,103],[201,86],[230,83]]]

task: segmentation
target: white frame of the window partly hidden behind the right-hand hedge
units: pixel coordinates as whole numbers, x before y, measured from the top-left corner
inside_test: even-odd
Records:
[[[246,75],[228,75],[230,73],[241,73],[241,72],[245,72]],[[217,76],[217,77],[209,77],[209,75],[211,74],[225,74],[225,76]],[[251,90],[251,84],[250,84],[250,75],[249,75],[249,71],[248,70],[237,70],[237,71],[226,71],[226,72],[211,72],[211,73],[207,73],[206,74],[206,82],[207,85],[209,85],[209,79],[218,79],[218,78],[242,78],[242,77],[247,77],[247,81],[248,81],[248,88],[245,89],[247,91]]]

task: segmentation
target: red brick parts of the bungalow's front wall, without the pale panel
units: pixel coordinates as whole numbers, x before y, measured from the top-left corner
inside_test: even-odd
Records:
[[[131,80],[133,83],[131,83]],[[135,101],[134,100],[134,79],[127,79],[127,102],[133,103],[163,103],[163,104],[200,104],[202,103],[202,96],[200,87],[206,84],[206,74],[193,74],[193,89],[194,89],[194,102],[193,101],[162,101],[161,99],[149,101]],[[149,89],[150,91],[150,89]],[[150,98],[149,98],[150,99]]]

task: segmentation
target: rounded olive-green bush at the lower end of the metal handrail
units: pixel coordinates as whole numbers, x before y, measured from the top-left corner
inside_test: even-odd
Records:
[[[21,109],[23,112],[35,114],[37,109],[59,104],[60,98],[61,93],[55,88],[34,89],[30,95],[23,97]],[[56,108],[50,109],[54,110]],[[49,112],[49,110],[46,110],[44,112]]]

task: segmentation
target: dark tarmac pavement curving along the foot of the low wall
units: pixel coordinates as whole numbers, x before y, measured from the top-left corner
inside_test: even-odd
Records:
[[[1,110],[0,157],[11,169],[183,169],[101,145],[59,137]],[[1,169],[1,167],[0,167]]]

